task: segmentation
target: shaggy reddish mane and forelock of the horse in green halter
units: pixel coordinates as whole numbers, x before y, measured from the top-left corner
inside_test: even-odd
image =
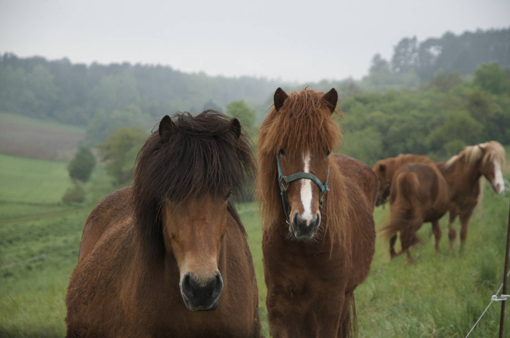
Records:
[[[327,103],[322,99],[323,92],[303,89],[292,91],[282,108],[271,111],[259,129],[258,142],[258,186],[257,198],[262,210],[263,229],[281,226],[279,218],[283,214],[282,197],[278,187],[276,154],[284,148],[289,155],[303,154],[307,150],[338,149],[340,147],[340,129],[332,117],[342,118],[338,108],[333,114]],[[334,161],[331,156],[330,161]],[[327,223],[325,230],[341,245],[346,245],[347,234],[344,226],[347,221],[345,185],[337,165],[329,166],[329,190],[325,195]]]

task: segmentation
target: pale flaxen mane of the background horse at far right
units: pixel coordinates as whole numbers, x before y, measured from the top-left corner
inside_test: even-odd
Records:
[[[448,168],[462,158],[465,159],[467,165],[473,165],[481,159],[482,164],[487,161],[494,161],[502,167],[505,164],[505,150],[498,141],[475,144],[464,148],[458,155],[453,155],[445,163],[445,166]]]

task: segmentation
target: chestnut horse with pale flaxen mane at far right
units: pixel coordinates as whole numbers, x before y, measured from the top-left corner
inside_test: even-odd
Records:
[[[504,190],[501,168],[505,163],[505,150],[497,141],[475,144],[466,147],[447,162],[438,162],[450,189],[451,201],[448,207],[448,238],[450,250],[457,232],[452,227],[457,215],[461,220],[461,250],[466,244],[468,223],[473,209],[478,204],[483,192],[484,177],[491,182],[497,193]]]

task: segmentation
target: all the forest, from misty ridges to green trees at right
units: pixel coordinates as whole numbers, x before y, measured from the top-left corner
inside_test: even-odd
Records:
[[[105,141],[116,142],[115,135],[129,133],[119,128],[146,133],[163,115],[176,111],[216,109],[239,115],[254,135],[277,87],[335,87],[344,112],[339,122],[343,153],[369,165],[399,153],[439,160],[477,142],[510,144],[509,68],[510,28],[446,33],[423,42],[403,38],[390,61],[374,56],[361,81],[310,84],[185,74],[161,65],[87,66],[5,54],[0,58],[0,112],[87,126],[83,145],[101,149]],[[116,164],[123,172],[136,155],[135,150],[129,153],[134,155]]]

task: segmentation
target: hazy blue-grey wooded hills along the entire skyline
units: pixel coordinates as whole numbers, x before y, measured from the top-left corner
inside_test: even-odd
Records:
[[[224,111],[226,104],[242,99],[257,110],[260,122],[272,103],[274,90],[280,86],[300,90],[310,85],[323,91],[335,87],[340,99],[346,99],[361,92],[419,89],[439,71],[457,70],[466,76],[490,61],[510,68],[510,28],[461,35],[445,33],[441,38],[423,42],[406,37],[397,43],[390,61],[375,55],[369,75],[361,81],[303,84],[186,74],[162,65],[85,65],[68,59],[48,61],[4,54],[0,56],[0,112],[88,126],[94,117],[101,124],[105,116],[132,111],[141,112],[141,118],[154,126],[153,121],[165,114],[211,108]]]

